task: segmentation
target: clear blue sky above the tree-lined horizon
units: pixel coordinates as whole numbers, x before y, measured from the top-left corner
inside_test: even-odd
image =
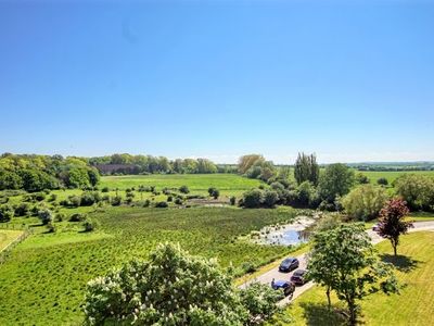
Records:
[[[434,160],[433,1],[0,1],[0,152]]]

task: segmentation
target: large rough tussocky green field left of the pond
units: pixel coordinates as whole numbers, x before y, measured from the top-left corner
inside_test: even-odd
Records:
[[[291,221],[296,214],[286,208],[108,206],[91,213],[101,222],[97,233],[82,234],[78,226],[71,229],[65,225],[56,234],[44,234],[44,227],[35,227],[35,235],[0,266],[0,325],[78,325],[87,281],[129,259],[146,258],[158,242],[179,242],[192,254],[215,256],[222,266],[232,263],[242,273],[242,263],[261,265],[290,249],[237,237]]]

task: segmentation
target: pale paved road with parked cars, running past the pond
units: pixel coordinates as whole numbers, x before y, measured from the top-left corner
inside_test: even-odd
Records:
[[[416,222],[416,223],[413,223],[413,225],[414,225],[414,227],[409,229],[410,233],[423,231],[423,230],[434,231],[434,221]],[[376,244],[376,243],[379,243],[379,242],[384,240],[375,231],[368,230],[367,233],[371,237],[373,244]],[[306,264],[307,264],[306,254],[298,255],[297,259],[299,261],[299,267],[298,268],[306,268]],[[284,280],[288,279],[289,280],[291,278],[292,274],[293,274],[293,272],[291,272],[291,273],[281,273],[281,272],[279,272],[279,267],[275,267],[273,269],[270,269],[270,271],[259,275],[255,279],[250,280],[250,281],[241,285],[241,288],[245,288],[245,287],[247,287],[250,284],[252,284],[254,281],[259,281],[259,283],[269,285],[269,284],[271,284],[271,280],[273,278],[276,280],[279,280],[279,279],[284,279]],[[302,294],[303,292],[305,292],[306,290],[308,290],[312,286],[314,286],[314,283],[309,281],[309,283],[305,284],[304,286],[296,287],[292,300],[297,298],[299,294]],[[279,302],[279,305],[285,305],[290,301],[291,301],[291,299],[286,297],[286,298],[284,298],[283,300],[281,300]]]

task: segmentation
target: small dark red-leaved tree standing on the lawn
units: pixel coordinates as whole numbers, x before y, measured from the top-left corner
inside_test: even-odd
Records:
[[[387,201],[380,212],[378,234],[391,241],[395,256],[400,235],[407,234],[408,229],[413,226],[411,222],[404,221],[408,213],[406,202],[401,199]]]

